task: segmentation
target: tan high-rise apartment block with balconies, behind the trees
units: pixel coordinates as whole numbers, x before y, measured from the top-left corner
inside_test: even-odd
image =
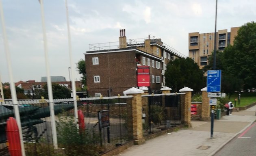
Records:
[[[216,50],[223,51],[229,44],[233,45],[234,37],[240,27],[233,27],[228,32],[225,30],[218,30],[216,33]],[[215,33],[191,32],[189,33],[189,57],[202,69],[208,65],[208,56],[214,51],[214,37]]]

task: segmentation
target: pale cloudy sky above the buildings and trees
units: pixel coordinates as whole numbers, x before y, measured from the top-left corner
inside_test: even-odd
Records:
[[[46,76],[39,0],[0,0],[9,42],[14,82],[41,81]],[[189,32],[215,31],[215,0],[67,0],[75,80],[76,63],[85,59],[89,44],[127,39],[162,41],[188,56]],[[51,76],[69,80],[69,46],[65,0],[43,0]],[[255,0],[218,0],[217,30],[256,21]],[[10,82],[0,23],[0,76]]]

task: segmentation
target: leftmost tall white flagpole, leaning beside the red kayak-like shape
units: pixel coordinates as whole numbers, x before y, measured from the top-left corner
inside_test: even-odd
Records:
[[[12,98],[12,101],[14,104],[15,119],[17,121],[17,125],[19,128],[22,156],[26,156],[24,143],[23,143],[22,127],[21,127],[21,122],[20,122],[20,111],[19,111],[19,106],[18,106],[19,103],[17,100],[17,94],[16,94],[15,85],[14,85],[14,81],[13,81],[13,70],[11,67],[11,56],[10,56],[10,51],[9,51],[9,43],[7,40],[7,34],[6,34],[6,30],[5,30],[4,11],[3,11],[3,7],[2,7],[2,0],[0,0],[0,15],[1,15],[2,33],[3,33],[3,39],[4,39],[4,50],[6,52],[7,66],[8,66],[8,72],[9,72],[9,78],[10,78],[11,98]]]

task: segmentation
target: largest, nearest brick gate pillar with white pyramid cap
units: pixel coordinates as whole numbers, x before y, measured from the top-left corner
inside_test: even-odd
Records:
[[[125,95],[132,95],[127,99],[127,128],[128,137],[134,139],[134,144],[139,145],[145,141],[142,127],[142,98],[143,90],[132,87],[123,92]]]

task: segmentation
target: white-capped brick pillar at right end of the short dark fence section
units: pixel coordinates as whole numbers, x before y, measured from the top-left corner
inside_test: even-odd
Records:
[[[189,87],[184,87],[179,90],[180,92],[186,92],[186,94],[181,96],[180,108],[181,108],[181,121],[187,126],[191,126],[191,92],[193,89]]]

